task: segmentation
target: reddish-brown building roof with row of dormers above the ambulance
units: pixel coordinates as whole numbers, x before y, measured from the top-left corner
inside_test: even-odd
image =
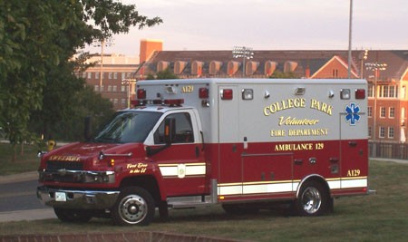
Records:
[[[295,63],[295,73],[299,77],[306,77],[306,69],[310,76],[318,72],[326,63],[331,61],[335,56],[336,60],[348,64],[348,51],[346,50],[285,50],[285,51],[252,51],[253,58],[245,60],[246,62],[257,63],[257,70],[252,74],[253,77],[265,76],[265,68],[267,62],[277,63],[276,70],[286,72],[286,63]],[[408,50],[400,51],[368,51],[366,60],[362,60],[364,50],[352,52],[352,72],[355,76],[360,76],[363,72],[364,78],[368,78],[370,73],[365,70],[365,63],[387,63],[386,70],[382,71],[381,76],[386,80],[399,81],[403,78],[403,74],[408,68]],[[202,75],[209,75],[209,64],[211,62],[219,62],[221,66],[217,76],[227,76],[228,63],[237,62],[243,63],[243,58],[233,58],[232,51],[160,51],[151,55],[151,59],[142,63],[140,73],[149,74],[158,72],[158,63],[169,63],[170,70],[174,70],[174,65],[178,61],[184,62],[180,77],[192,77],[191,63],[194,61],[202,62]],[[363,63],[362,63],[363,61]],[[141,73],[142,72],[142,73]],[[242,64],[239,65],[238,71],[235,74],[242,74]]]

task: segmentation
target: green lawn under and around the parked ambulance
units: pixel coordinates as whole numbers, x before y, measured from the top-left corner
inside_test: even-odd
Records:
[[[110,219],[102,218],[93,218],[86,224],[45,219],[0,223],[0,235],[160,231],[260,242],[406,241],[407,178],[408,165],[372,160],[369,185],[377,194],[335,199],[335,212],[317,218],[287,216],[271,210],[256,215],[229,216],[219,206],[213,206],[170,210],[168,219],[155,218],[149,227],[118,227],[113,226]]]

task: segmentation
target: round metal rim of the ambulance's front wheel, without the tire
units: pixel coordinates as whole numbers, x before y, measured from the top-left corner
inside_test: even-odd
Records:
[[[121,199],[119,214],[128,224],[137,224],[146,218],[148,213],[146,200],[138,195],[128,195]]]

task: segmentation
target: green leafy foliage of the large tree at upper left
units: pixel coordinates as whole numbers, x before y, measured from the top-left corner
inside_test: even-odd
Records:
[[[71,59],[78,48],[161,22],[113,0],[0,1],[0,127],[6,138],[23,142],[31,136],[30,119],[47,126],[78,110],[73,97],[84,84]]]

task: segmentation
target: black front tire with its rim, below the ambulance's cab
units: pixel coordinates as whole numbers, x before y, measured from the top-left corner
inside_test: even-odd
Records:
[[[154,199],[139,187],[121,190],[113,206],[112,220],[116,225],[149,225],[154,217]]]

